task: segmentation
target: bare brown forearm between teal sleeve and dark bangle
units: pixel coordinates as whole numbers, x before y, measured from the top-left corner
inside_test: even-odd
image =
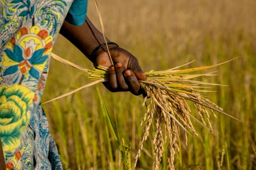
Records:
[[[91,23],[88,17],[81,26],[75,26],[64,21],[60,34],[73,43],[91,61],[93,61],[91,53],[104,43],[103,34]],[[107,39],[107,41],[109,40]]]

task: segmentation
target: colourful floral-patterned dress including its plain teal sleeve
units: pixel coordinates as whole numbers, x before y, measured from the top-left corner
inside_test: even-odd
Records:
[[[40,101],[63,20],[68,14],[69,23],[83,24],[86,7],[87,0],[0,0],[0,139],[7,170],[62,169]]]

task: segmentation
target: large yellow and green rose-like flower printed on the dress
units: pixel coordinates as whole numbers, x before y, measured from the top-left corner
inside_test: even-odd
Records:
[[[0,136],[4,154],[11,154],[21,145],[21,135],[30,119],[29,107],[34,92],[28,87],[0,85]]]

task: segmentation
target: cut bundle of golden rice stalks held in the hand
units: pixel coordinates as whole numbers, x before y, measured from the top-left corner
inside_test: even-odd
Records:
[[[87,76],[94,80],[94,82],[82,86],[74,91],[67,94],[63,94],[50,101],[60,99],[64,96],[72,94],[80,89],[97,84],[99,82],[107,81],[108,69],[104,66],[98,66],[97,69],[88,70],[84,69],[76,64],[73,64],[59,56],[52,53],[52,57],[70,66],[73,66],[81,71],[86,72]],[[230,60],[231,61],[231,60]],[[193,61],[192,61],[193,62]],[[144,129],[141,135],[141,141],[138,144],[138,152],[135,157],[135,164],[141,155],[141,150],[143,148],[144,141],[147,140],[149,136],[149,129],[151,125],[154,124],[154,146],[155,146],[155,169],[158,170],[159,164],[162,158],[163,146],[168,142],[168,155],[167,162],[169,169],[174,169],[174,156],[175,153],[179,151],[177,144],[179,138],[178,129],[181,128],[185,132],[185,143],[187,145],[187,135],[192,133],[198,136],[196,129],[194,128],[191,119],[194,119],[201,126],[212,131],[212,125],[209,120],[210,114],[216,117],[215,112],[224,114],[232,119],[241,122],[239,119],[232,117],[229,114],[223,112],[223,109],[217,104],[202,96],[200,92],[211,92],[209,90],[201,90],[204,87],[202,85],[209,86],[225,86],[221,84],[207,83],[202,81],[191,80],[200,76],[214,76],[215,74],[191,74],[194,71],[201,71],[205,69],[210,69],[221,64],[227,63],[229,61],[219,63],[212,66],[203,66],[192,69],[177,70],[181,66],[168,69],[165,71],[148,71],[145,72],[147,75],[147,80],[140,81],[142,88],[146,91],[147,96],[144,97],[143,106],[146,106],[146,112],[141,120],[140,126],[144,124]],[[191,63],[191,62],[190,62]],[[189,64],[189,63],[187,63]],[[185,64],[186,65],[186,64]],[[183,66],[185,66],[183,65]],[[50,102],[47,101],[47,102]],[[200,120],[191,115],[191,109],[188,105],[188,101],[192,101],[194,107],[197,109],[197,114]],[[148,105],[147,105],[147,104]],[[242,122],[243,123],[243,122]],[[214,134],[216,135],[216,134]],[[216,135],[217,136],[217,135]]]

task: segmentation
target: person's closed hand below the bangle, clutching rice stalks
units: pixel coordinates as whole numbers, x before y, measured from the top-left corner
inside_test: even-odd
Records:
[[[110,67],[108,81],[103,83],[104,86],[112,92],[131,91],[135,95],[143,93],[138,80],[146,80],[147,77],[141,70],[137,58],[120,47],[112,47],[109,50],[114,67],[111,66],[106,51],[99,53],[94,60],[94,66]]]

